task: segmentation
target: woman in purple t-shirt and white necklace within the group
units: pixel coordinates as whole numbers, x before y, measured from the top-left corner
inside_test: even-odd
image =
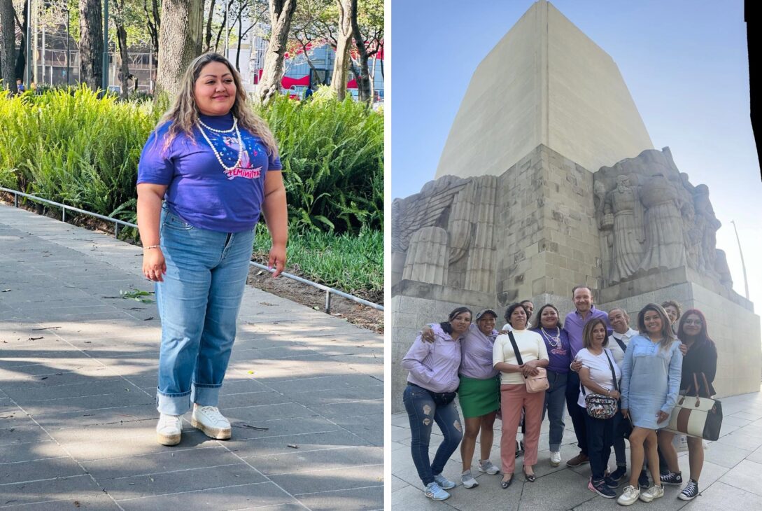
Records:
[[[564,436],[564,407],[566,403],[566,377],[571,363],[571,346],[566,330],[563,329],[559,318],[559,310],[555,305],[545,304],[537,311],[537,328],[531,331],[543,336],[545,348],[548,351],[550,363],[548,382],[550,388],[545,391],[543,403],[543,420],[547,410],[550,421],[550,464],[558,467],[561,464],[561,441]]]

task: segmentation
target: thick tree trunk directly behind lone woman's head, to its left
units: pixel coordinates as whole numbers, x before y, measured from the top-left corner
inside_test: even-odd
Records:
[[[201,54],[203,0],[164,0],[162,28],[158,34],[157,94],[170,101],[180,92],[187,66]]]

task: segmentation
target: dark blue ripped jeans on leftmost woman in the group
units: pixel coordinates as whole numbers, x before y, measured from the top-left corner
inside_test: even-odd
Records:
[[[402,394],[402,402],[405,403],[410,419],[410,452],[418,477],[421,477],[424,485],[433,483],[434,476],[442,473],[447,460],[463,439],[463,426],[460,424],[455,401],[444,407],[437,406],[428,390],[408,384]],[[428,446],[434,423],[442,430],[444,440],[437,448],[434,463],[429,464]]]

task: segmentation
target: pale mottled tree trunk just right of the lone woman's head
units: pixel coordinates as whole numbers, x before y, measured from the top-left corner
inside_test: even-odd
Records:
[[[283,79],[283,53],[291,27],[291,18],[296,9],[296,0],[270,0],[270,25],[272,34],[264,54],[262,78],[259,82],[258,98],[267,104],[280,93],[280,80]]]

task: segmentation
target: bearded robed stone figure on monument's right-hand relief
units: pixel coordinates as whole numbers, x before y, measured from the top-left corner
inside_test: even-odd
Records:
[[[631,277],[638,271],[645,240],[639,187],[628,175],[616,177],[616,188],[607,194],[604,214],[613,214],[613,249],[610,283]]]

